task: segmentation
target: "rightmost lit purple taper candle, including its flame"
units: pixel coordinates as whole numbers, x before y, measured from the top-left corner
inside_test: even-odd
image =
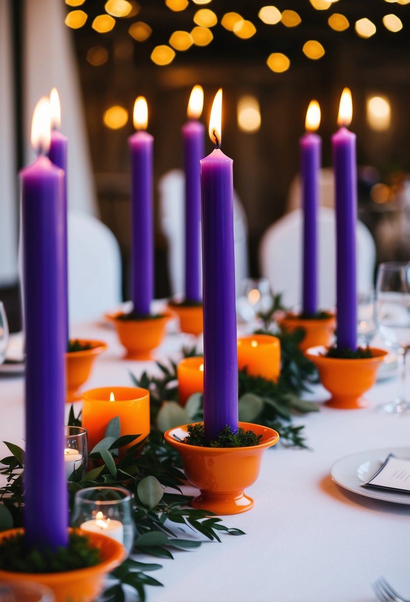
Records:
[[[332,135],[336,191],[337,347],[355,350],[357,167],[356,135],[347,129],[351,120],[352,95],[349,88],[344,88],[338,116],[340,129]]]

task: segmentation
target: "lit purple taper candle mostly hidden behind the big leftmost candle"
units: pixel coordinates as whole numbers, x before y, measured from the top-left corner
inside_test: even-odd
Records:
[[[63,203],[63,238],[64,238],[64,268],[63,268],[63,276],[64,276],[64,287],[65,292],[63,295],[62,302],[65,302],[65,312],[66,312],[66,333],[67,333],[67,341],[69,339],[69,275],[68,275],[68,238],[67,238],[67,144],[68,138],[61,134],[59,131],[61,125],[61,108],[60,108],[60,98],[58,97],[58,92],[56,88],[52,88],[50,92],[50,107],[51,107],[51,138],[50,138],[50,149],[48,152],[49,160],[57,165],[57,167],[61,167],[64,171],[64,195],[61,199]]]

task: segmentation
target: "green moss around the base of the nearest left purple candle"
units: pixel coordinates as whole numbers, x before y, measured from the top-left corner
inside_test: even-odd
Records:
[[[38,550],[27,545],[24,533],[11,535],[0,543],[0,569],[13,573],[64,573],[102,562],[99,548],[91,547],[87,536],[70,533],[67,548]]]

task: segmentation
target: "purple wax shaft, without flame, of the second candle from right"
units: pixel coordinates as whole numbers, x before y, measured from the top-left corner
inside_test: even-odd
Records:
[[[317,313],[317,206],[322,140],[313,133],[299,141],[303,206],[302,312]]]

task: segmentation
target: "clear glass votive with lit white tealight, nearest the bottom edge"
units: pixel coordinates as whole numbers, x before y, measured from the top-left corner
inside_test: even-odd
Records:
[[[72,526],[111,537],[130,553],[135,530],[131,492],[123,487],[80,489],[74,498]]]

